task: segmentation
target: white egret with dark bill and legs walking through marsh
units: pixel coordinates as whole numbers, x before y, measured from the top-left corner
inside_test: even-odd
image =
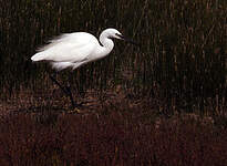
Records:
[[[65,33],[51,40],[48,45],[38,49],[38,53],[35,53],[31,60],[49,61],[56,71],[66,68],[75,70],[83,64],[106,56],[114,48],[112,39],[120,39],[136,44],[125,39],[122,33],[112,28],[101,33],[100,42],[94,35],[86,32]],[[74,104],[70,89],[63,87],[53,76],[50,76],[50,79],[70,96],[72,106],[78,106],[78,104]]]

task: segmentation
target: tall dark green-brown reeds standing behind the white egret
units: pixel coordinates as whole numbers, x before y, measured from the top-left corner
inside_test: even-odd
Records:
[[[30,62],[51,37],[73,31],[97,37],[114,27],[142,48],[116,43],[110,56],[74,72],[72,85],[78,81],[78,91],[121,85],[134,96],[164,101],[172,111],[216,114],[226,107],[225,0],[1,0],[0,4],[0,90],[6,92],[1,98],[21,87],[44,92],[53,86],[45,72],[50,69]]]

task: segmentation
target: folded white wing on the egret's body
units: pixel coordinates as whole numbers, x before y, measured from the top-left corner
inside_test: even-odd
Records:
[[[97,45],[99,41],[90,33],[68,33],[51,40],[50,44],[39,49],[31,59],[32,61],[82,62]]]

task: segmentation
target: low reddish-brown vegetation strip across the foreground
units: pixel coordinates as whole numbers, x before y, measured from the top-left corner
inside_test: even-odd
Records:
[[[1,118],[0,165],[227,165],[227,131],[192,116],[153,123],[126,111],[34,117]]]

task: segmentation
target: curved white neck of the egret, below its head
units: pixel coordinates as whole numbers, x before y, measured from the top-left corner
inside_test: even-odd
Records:
[[[105,31],[100,35],[100,42],[103,45],[101,49],[103,55],[107,55],[114,48],[114,42],[107,38]]]

